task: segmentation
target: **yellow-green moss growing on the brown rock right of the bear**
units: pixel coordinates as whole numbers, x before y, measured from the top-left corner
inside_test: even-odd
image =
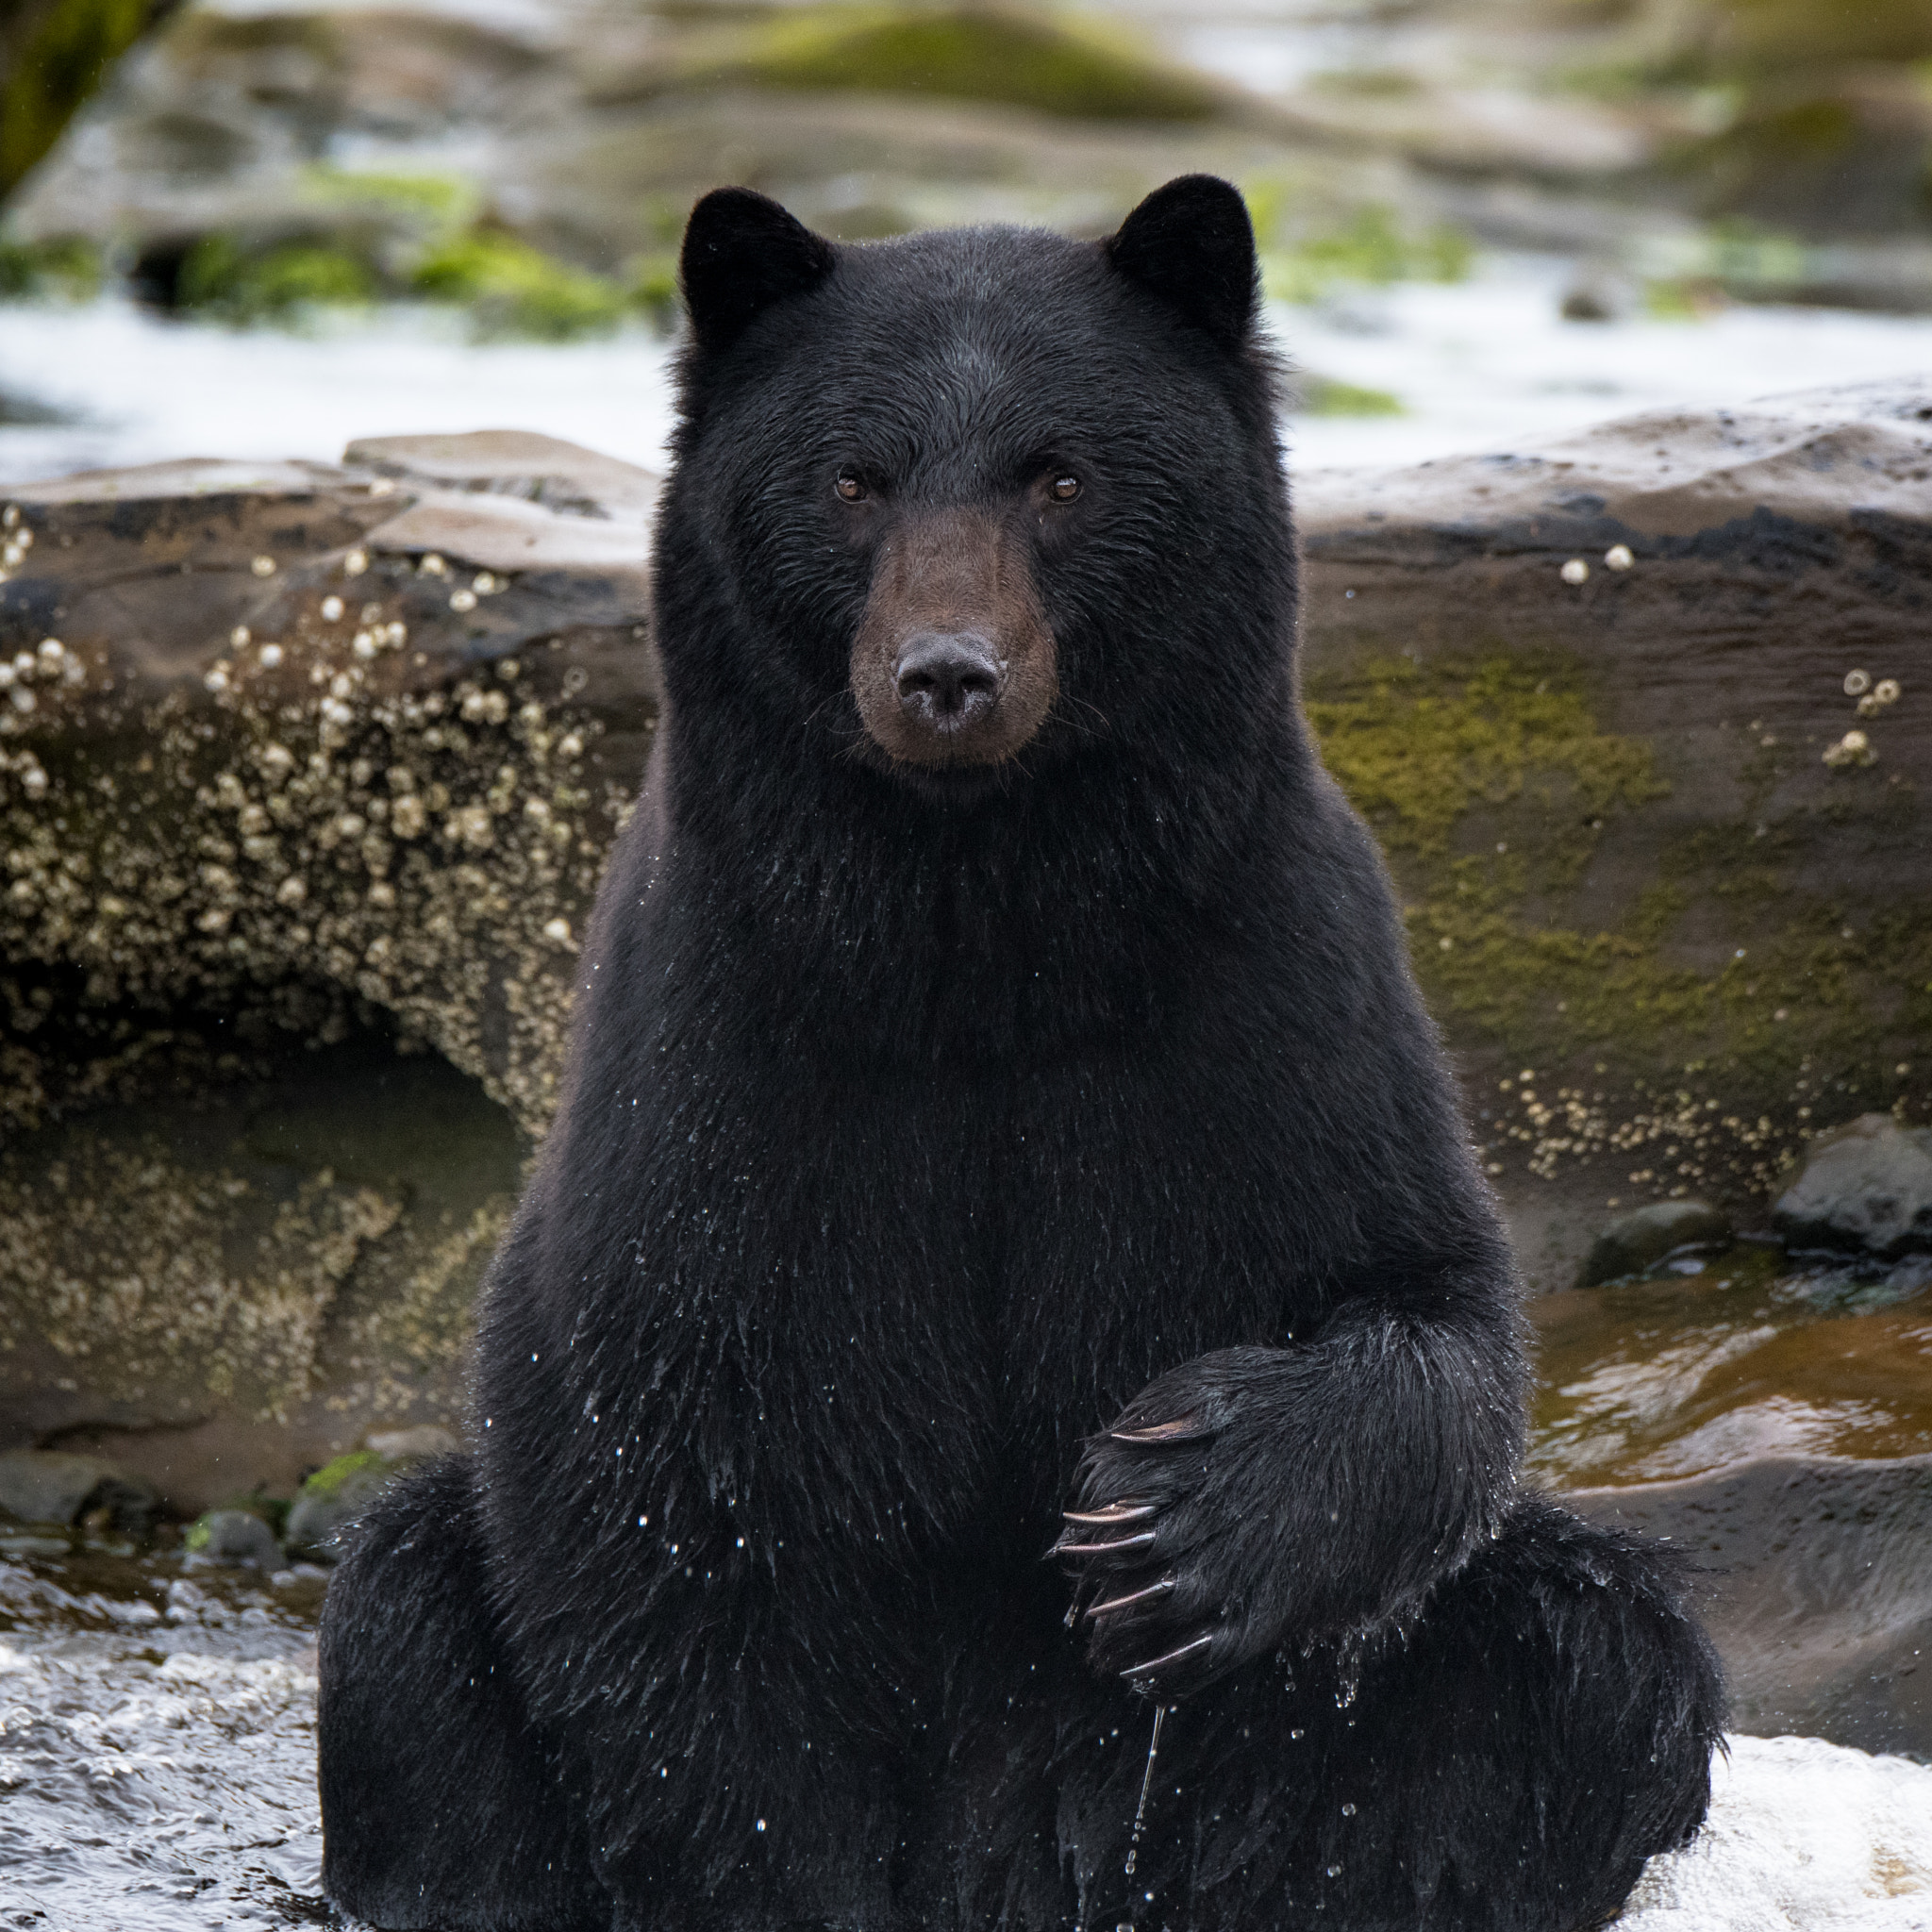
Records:
[[[1880,1047],[1932,1036],[1932,916],[1901,908],[1853,925],[1845,908],[1793,893],[1779,858],[1795,833],[1754,808],[1656,829],[1650,883],[1607,925],[1578,918],[1604,838],[1619,835],[1629,864],[1644,835],[1623,827],[1667,786],[1646,744],[1598,726],[1575,661],[1372,663],[1310,678],[1308,715],[1389,852],[1416,976],[1464,1051],[1542,1068],[1546,1084],[1573,1068],[1621,1088],[1617,1105],[1706,1082],[1750,1111],[1748,1132],[1731,1121],[1747,1148],[1764,1144],[1760,1109],[1803,1130],[1799,1109],[1816,1111],[1826,1084],[1845,1095],[1830,1103],[1839,1113],[1903,1092],[1907,1068]],[[1689,964],[1690,935],[1719,964]],[[1582,1140],[1619,1144],[1615,1121],[1592,1121]],[[1577,1136],[1540,1117],[1519,1138],[1565,1151]],[[1675,1173],[1698,1179],[1692,1165]]]

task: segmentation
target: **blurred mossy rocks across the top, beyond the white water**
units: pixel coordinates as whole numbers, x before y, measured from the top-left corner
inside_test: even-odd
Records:
[[[14,299],[116,282],[284,328],[419,301],[570,340],[674,323],[717,182],[864,240],[1099,232],[1206,166],[1283,301],[1488,245],[1569,253],[1578,321],[1932,309],[1932,0],[0,0],[0,50]]]

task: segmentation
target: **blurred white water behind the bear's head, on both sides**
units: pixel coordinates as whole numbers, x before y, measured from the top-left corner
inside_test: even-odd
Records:
[[[1453,286],[1364,290],[1271,323],[1302,369],[1395,396],[1401,415],[1298,415],[1298,471],[1509,450],[1638,410],[1712,410],[1932,367],[1932,321],[1735,307],[1706,321],[1565,323],[1571,265],[1492,257]],[[0,305],[15,404],[0,485],[178,456],[334,462],[352,437],[531,429],[663,468],[672,346],[634,332],[477,344],[458,317],[392,309],[313,336],[170,323],[126,301]],[[29,412],[31,413],[31,412]]]

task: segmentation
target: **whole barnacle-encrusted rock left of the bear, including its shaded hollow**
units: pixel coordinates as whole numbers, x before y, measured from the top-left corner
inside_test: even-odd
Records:
[[[655,724],[653,493],[481,435],[0,506],[4,1439],[199,1507],[247,1428],[292,1480],[452,1412]]]

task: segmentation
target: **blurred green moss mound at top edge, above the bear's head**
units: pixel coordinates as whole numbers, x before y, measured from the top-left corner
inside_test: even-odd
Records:
[[[765,87],[951,95],[1078,120],[1198,122],[1211,83],[1117,35],[1003,8],[811,8],[697,79]]]

